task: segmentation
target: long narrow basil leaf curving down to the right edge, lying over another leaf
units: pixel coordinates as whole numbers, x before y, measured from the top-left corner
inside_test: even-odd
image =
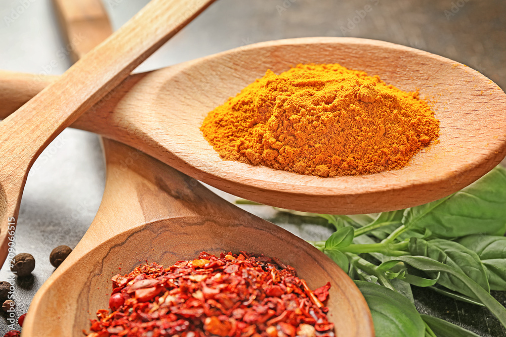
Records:
[[[472,291],[472,298],[483,303],[485,307],[487,307],[488,310],[497,317],[502,326],[506,327],[506,309],[497,302],[492,295],[490,295],[469,276],[464,274],[460,269],[448,266],[425,256],[399,256],[393,258],[393,260],[407,263],[416,269],[424,270],[426,272],[446,272],[458,277]]]

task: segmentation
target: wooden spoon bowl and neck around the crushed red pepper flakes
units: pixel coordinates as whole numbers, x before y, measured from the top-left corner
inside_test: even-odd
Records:
[[[201,251],[239,250],[280,258],[312,288],[330,281],[328,317],[336,335],[374,335],[358,288],[316,248],[140,151],[112,140],[104,143],[107,180],[97,216],[35,295],[23,336],[81,335],[96,310],[107,307],[110,278],[141,261],[171,265]]]

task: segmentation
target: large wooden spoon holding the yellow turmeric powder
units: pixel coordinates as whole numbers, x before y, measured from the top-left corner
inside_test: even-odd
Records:
[[[221,160],[199,131],[205,115],[267,69],[282,72],[310,62],[340,63],[403,90],[418,89],[441,121],[439,143],[401,170],[365,176],[320,178]],[[11,78],[0,95],[46,83]],[[495,83],[452,60],[388,42],[315,37],[243,46],[131,76],[73,126],[131,145],[236,196],[353,214],[427,203],[478,179],[506,154],[505,111],[506,95]]]

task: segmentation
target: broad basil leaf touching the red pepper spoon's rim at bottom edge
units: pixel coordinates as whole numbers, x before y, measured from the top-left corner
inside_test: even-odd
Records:
[[[414,305],[384,286],[355,281],[369,305],[376,336],[424,337],[425,324]]]

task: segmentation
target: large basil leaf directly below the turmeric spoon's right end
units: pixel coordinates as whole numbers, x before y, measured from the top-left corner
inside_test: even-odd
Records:
[[[506,231],[506,169],[497,166],[460,191],[404,211],[406,227],[428,228],[438,237],[503,235]]]

